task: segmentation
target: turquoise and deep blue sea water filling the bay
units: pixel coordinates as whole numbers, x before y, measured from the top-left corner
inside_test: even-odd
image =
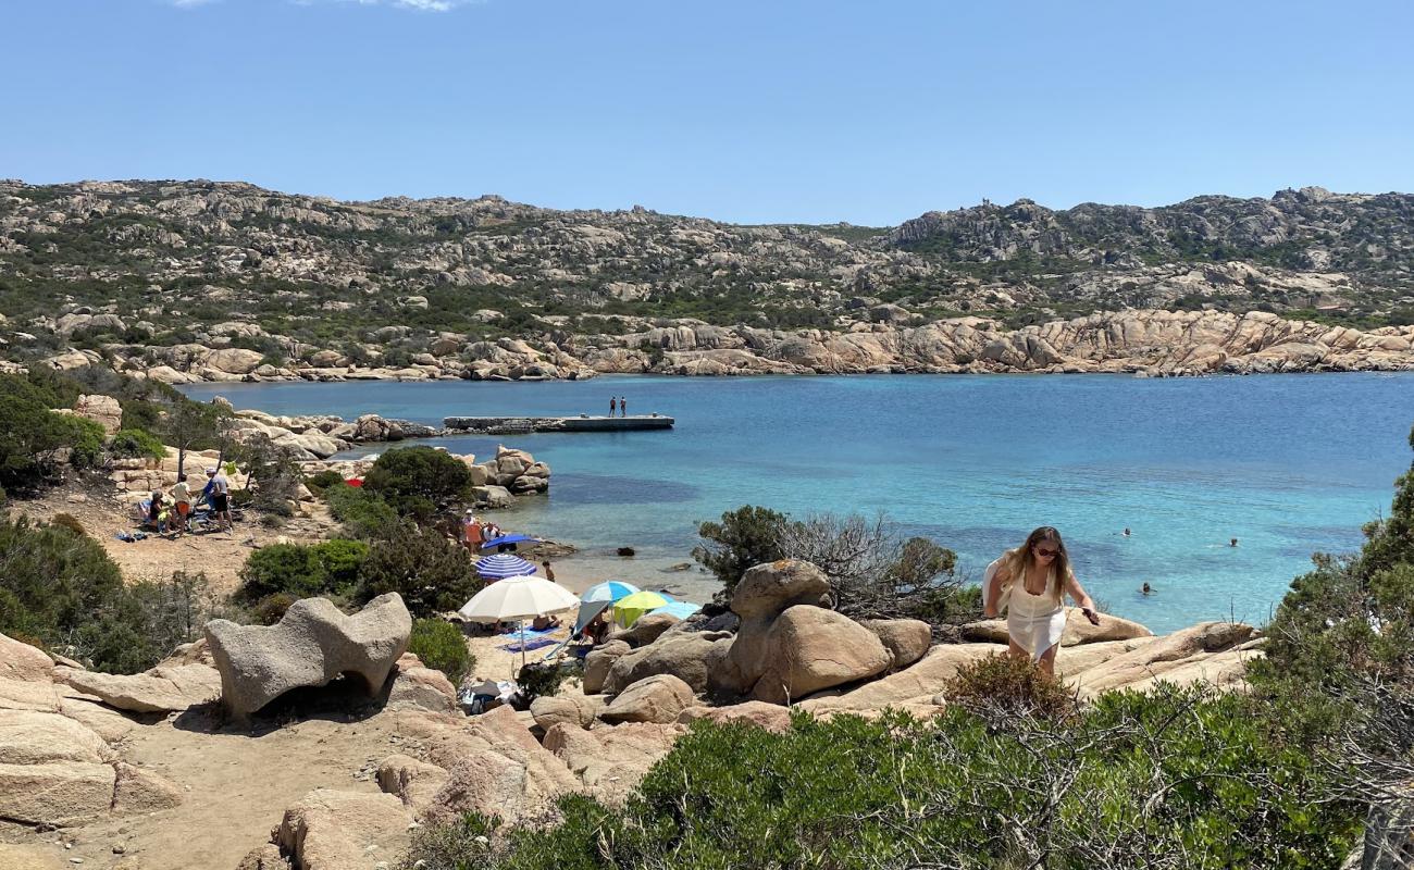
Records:
[[[544,383],[223,383],[187,388],[270,413],[631,413],[672,431],[499,441],[553,468],[546,499],[502,523],[575,543],[605,573],[689,597],[696,523],[742,504],[803,516],[884,511],[957,550],[974,576],[1035,526],[1066,539],[1111,611],[1167,631],[1263,622],[1312,552],[1359,547],[1410,465],[1414,375],[1135,379],[1103,375],[645,378]],[[1130,538],[1120,532],[1128,526]],[[1227,546],[1237,538],[1237,547]],[[614,547],[633,546],[632,562]],[[1148,581],[1157,591],[1138,593]]]

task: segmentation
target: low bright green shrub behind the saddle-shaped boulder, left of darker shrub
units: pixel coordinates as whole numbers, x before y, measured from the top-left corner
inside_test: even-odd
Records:
[[[368,555],[369,547],[362,540],[270,545],[246,557],[239,594],[246,601],[259,601],[276,593],[296,598],[348,597]]]

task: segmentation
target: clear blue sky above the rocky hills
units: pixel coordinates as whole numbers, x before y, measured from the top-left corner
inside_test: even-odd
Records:
[[[0,0],[0,177],[891,225],[1414,190],[1410,0]]]

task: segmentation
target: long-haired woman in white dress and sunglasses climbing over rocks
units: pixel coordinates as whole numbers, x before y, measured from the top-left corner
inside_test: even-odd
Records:
[[[995,570],[991,570],[995,566]],[[1046,676],[1055,676],[1056,652],[1065,632],[1065,596],[1080,605],[1092,625],[1100,624],[1094,601],[1070,570],[1060,532],[1041,526],[1027,543],[1007,550],[988,566],[984,600],[988,618],[1007,610],[1008,652],[1029,658]]]

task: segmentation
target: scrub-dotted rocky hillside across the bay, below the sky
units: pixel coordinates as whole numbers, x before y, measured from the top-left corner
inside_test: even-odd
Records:
[[[6,355],[88,352],[167,366],[175,379],[703,368],[665,362],[679,349],[766,361],[717,359],[701,373],[782,361],[928,371],[978,354],[816,365],[759,351],[875,331],[909,344],[939,321],[1008,334],[1130,308],[1266,311],[1315,324],[1302,334],[1321,324],[1369,332],[1414,323],[1411,267],[1414,195],[1319,188],[1152,209],[1022,199],[871,229],[553,211],[499,197],[338,202],[243,182],[0,181]],[[662,341],[665,328],[689,330],[691,347]],[[223,356],[212,364],[211,351]]]

